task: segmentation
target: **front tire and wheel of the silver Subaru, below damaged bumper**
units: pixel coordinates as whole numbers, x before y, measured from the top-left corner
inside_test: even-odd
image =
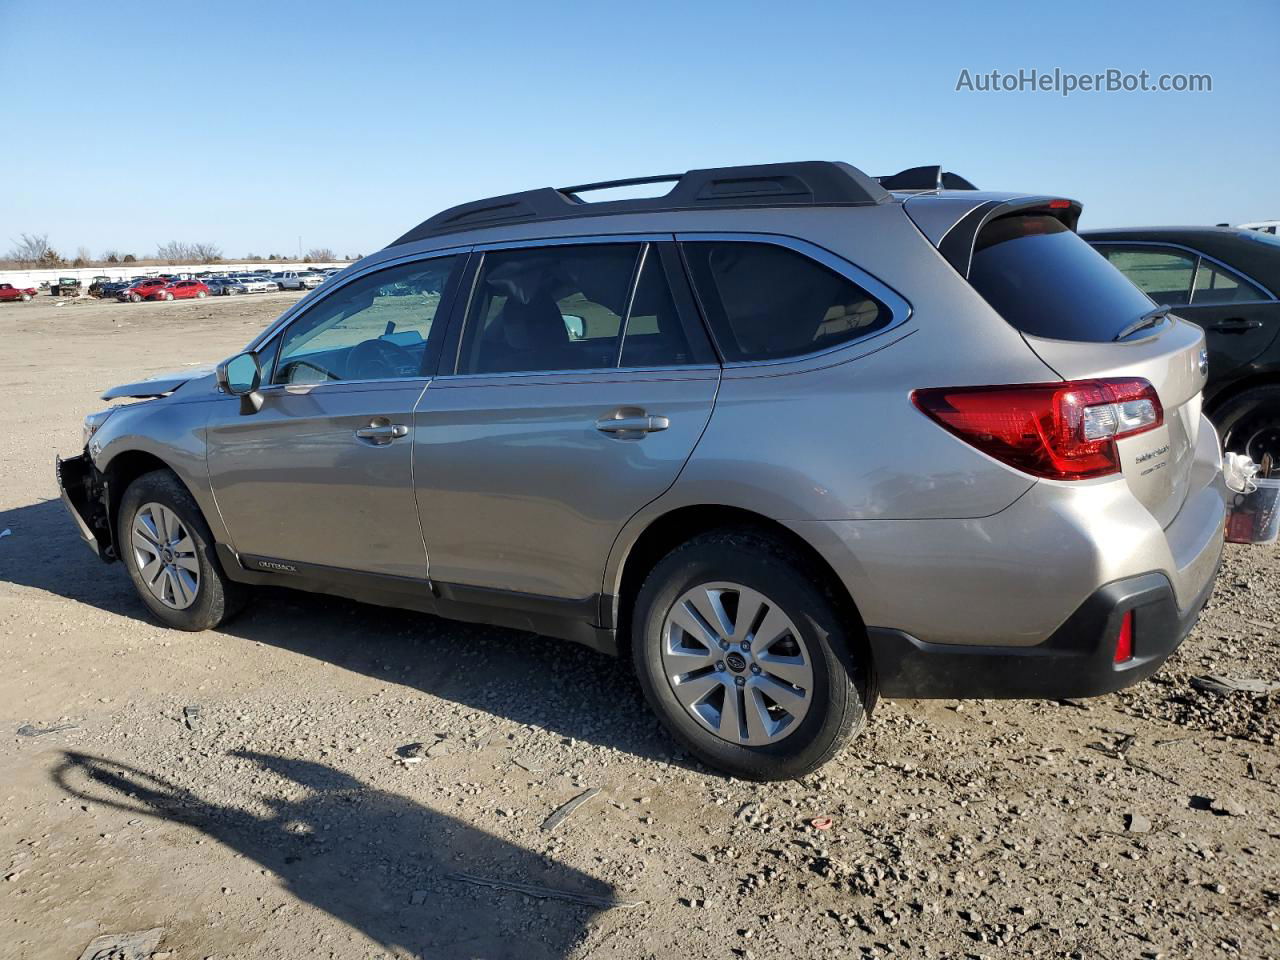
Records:
[[[159,530],[156,524],[156,513],[160,511],[168,511],[170,517],[164,530]],[[173,517],[180,525],[177,531],[173,529]],[[134,547],[133,534],[138,525],[148,531],[148,535],[143,535],[143,541],[152,545],[155,540],[163,539],[157,534],[173,532],[173,539],[180,538],[170,554],[173,563],[166,564],[164,558],[159,561],[161,570],[155,575],[159,591],[148,586],[151,563],[157,559],[159,552]],[[155,470],[129,484],[120,498],[116,515],[116,540],[138,596],[165,626],[191,631],[212,630],[243,605],[246,589],[223,575],[214,553],[214,536],[200,507],[170,471]],[[188,547],[183,548],[183,544]],[[168,602],[161,595],[172,596],[173,600]]]

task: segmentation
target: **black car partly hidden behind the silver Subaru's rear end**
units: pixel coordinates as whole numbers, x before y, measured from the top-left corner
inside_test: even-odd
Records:
[[[1222,447],[1280,463],[1280,239],[1221,227],[1082,236],[1156,303],[1204,328],[1204,411]]]

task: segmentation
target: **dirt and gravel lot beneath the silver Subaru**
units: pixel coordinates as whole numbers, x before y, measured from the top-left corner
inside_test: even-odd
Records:
[[[1280,696],[1190,684],[1280,680],[1261,548],[1151,682],[881,703],[763,786],[567,644],[283,590],[157,627],[54,454],[106,387],[224,357],[293,296],[0,305],[0,956],[152,927],[174,960],[1280,956]]]

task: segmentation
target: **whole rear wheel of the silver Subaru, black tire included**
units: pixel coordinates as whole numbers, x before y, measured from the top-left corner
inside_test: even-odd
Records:
[[[640,686],[663,726],[703,763],[745,780],[803,777],[835,756],[865,724],[874,703],[865,636],[856,618],[850,623],[850,617],[841,614],[838,602],[822,582],[820,573],[783,543],[746,530],[698,536],[667,554],[645,579],[631,634]],[[721,611],[733,607],[744,612],[748,608],[740,604],[750,603],[756,611],[753,618],[768,612],[751,634],[745,625],[737,628],[735,612],[732,635],[767,630],[777,639],[756,639],[754,650],[736,640],[717,650],[705,632],[677,631],[668,614],[692,623],[678,613],[677,603],[687,611],[686,599],[701,598],[690,603],[708,609],[704,586],[723,590]],[[758,605],[755,598],[764,603]],[[780,612],[781,621],[774,618]],[[707,617],[703,622],[712,621]],[[780,622],[787,627],[781,632]],[[719,636],[726,634],[730,631]],[[680,654],[690,652],[686,664]],[[705,666],[708,657],[717,662]],[[783,663],[790,666],[776,666]],[[685,672],[686,666],[694,669]],[[782,669],[788,672],[790,684],[771,676],[771,671]],[[690,684],[684,701],[676,694],[676,676]],[[686,705],[699,690],[709,694]],[[769,691],[786,696],[772,700]],[[796,699],[797,694],[804,696]],[[736,709],[727,708],[731,696]],[[713,730],[722,722],[727,736]]]

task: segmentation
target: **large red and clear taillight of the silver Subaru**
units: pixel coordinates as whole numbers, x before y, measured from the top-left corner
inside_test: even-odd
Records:
[[[1117,472],[1115,442],[1165,422],[1156,388],[1137,378],[941,387],[911,402],[983,453],[1052,480]]]

